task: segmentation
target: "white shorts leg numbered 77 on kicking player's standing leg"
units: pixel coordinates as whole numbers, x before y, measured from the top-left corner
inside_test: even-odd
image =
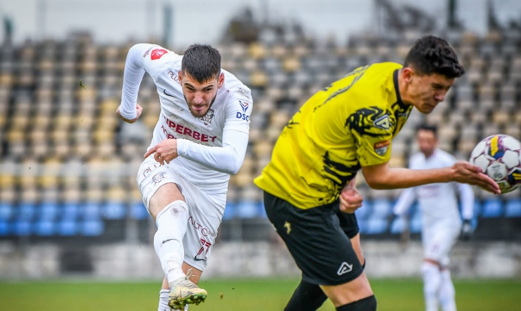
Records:
[[[207,266],[217,238],[227,194],[208,194],[189,181],[181,181],[181,189],[189,209],[187,231],[183,238],[185,263],[202,271]]]

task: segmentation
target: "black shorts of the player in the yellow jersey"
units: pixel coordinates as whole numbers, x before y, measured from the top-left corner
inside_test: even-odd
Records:
[[[356,216],[340,212],[338,202],[299,209],[264,192],[264,207],[302,270],[304,281],[339,285],[362,274],[362,265],[349,240],[358,233]]]

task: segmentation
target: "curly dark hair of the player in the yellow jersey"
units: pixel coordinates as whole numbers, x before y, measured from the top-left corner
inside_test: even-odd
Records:
[[[412,67],[419,75],[438,73],[447,78],[459,78],[465,74],[456,52],[437,36],[419,38],[408,52],[404,67]]]

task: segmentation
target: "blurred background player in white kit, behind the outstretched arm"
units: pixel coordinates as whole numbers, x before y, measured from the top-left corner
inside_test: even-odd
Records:
[[[416,140],[420,152],[410,158],[410,169],[444,168],[456,163],[451,154],[437,148],[435,126],[419,126]],[[461,200],[461,216],[456,192],[459,192]],[[432,183],[408,188],[398,198],[394,213],[403,216],[415,200],[419,201],[421,209],[421,240],[424,245],[421,272],[426,310],[437,311],[441,305],[443,311],[455,311],[449,253],[460,233],[468,235],[472,231],[470,220],[474,216],[474,192],[470,185],[463,183]]]

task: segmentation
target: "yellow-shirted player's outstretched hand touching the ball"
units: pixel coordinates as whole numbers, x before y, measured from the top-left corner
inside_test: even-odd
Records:
[[[454,170],[454,181],[475,185],[493,194],[501,194],[496,181],[484,174],[479,166],[472,165],[467,161],[459,161],[452,165],[452,170]]]

